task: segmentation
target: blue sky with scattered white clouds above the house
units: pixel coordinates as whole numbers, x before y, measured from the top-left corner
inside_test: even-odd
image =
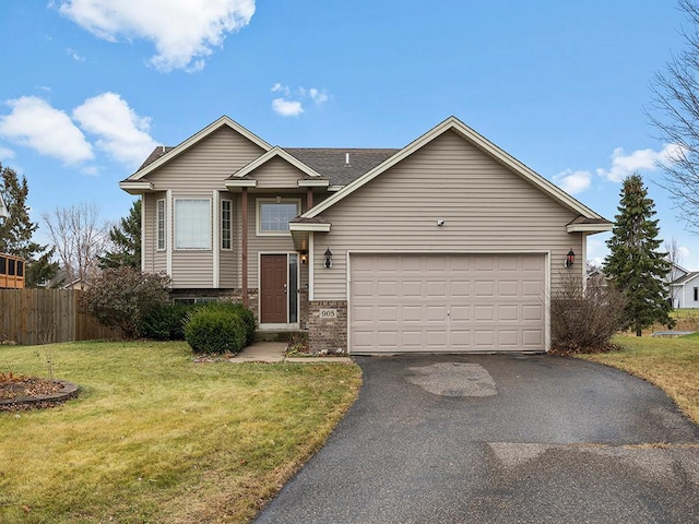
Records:
[[[684,23],[672,0],[2,0],[0,162],[34,221],[116,221],[119,180],[222,115],[308,147],[402,147],[454,115],[609,219],[638,170],[699,270],[643,112]]]

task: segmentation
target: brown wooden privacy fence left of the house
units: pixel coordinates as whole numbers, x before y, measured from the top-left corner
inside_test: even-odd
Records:
[[[19,344],[120,338],[80,312],[80,289],[0,289],[0,341]]]

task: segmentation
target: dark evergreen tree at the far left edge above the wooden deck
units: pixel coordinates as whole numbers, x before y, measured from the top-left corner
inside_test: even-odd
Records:
[[[8,218],[0,221],[0,252],[32,260],[46,250],[46,246],[32,241],[39,225],[29,219],[26,178],[20,180],[14,169],[0,165],[0,192],[10,213]]]

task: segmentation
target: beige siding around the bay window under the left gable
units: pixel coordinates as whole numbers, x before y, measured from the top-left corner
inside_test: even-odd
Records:
[[[206,199],[211,201],[212,213],[218,210],[215,224],[212,223],[212,235],[220,235],[220,205],[214,206],[214,191],[220,190],[218,199],[234,201],[234,228],[240,223],[236,222],[236,209],[239,199],[225,191],[225,180],[241,167],[260,156],[263,150],[234,130],[223,127],[206,139],[197,143],[188,151],[174,158],[170,163],[150,174],[147,179],[155,189],[169,189],[173,199],[173,214],[168,221],[174,221],[175,201],[178,199]],[[163,195],[165,193],[162,193]],[[164,196],[161,196],[164,198]],[[155,227],[155,200],[153,210],[149,210],[146,222],[150,227]],[[176,231],[173,228],[173,234]],[[235,229],[234,229],[235,230]],[[215,231],[215,233],[214,233]],[[149,231],[150,240],[146,243],[155,247],[155,229]],[[213,240],[213,239],[212,239]],[[174,247],[174,238],[168,238],[170,247]],[[214,246],[212,241],[212,247]],[[239,285],[237,271],[239,267],[240,240],[234,234],[234,249],[221,251],[220,286],[236,287]],[[173,250],[173,287],[176,288],[211,288],[213,282],[213,250]],[[154,266],[158,271],[165,271],[166,257],[164,252],[154,254]],[[161,260],[162,259],[162,263]],[[146,255],[147,260],[147,255]]]

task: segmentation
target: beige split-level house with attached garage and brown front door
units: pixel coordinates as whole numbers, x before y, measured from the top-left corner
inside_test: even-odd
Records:
[[[239,299],[315,350],[544,352],[552,288],[612,228],[453,117],[402,150],[282,148],[222,117],[120,187],[175,299]]]

